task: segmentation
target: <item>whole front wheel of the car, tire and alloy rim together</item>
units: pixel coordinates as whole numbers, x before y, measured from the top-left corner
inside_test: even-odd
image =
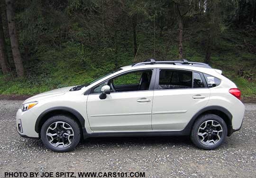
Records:
[[[46,148],[54,152],[72,151],[81,138],[81,130],[77,122],[65,115],[47,119],[40,133]]]

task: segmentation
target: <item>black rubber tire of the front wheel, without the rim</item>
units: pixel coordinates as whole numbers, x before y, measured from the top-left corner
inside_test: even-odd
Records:
[[[74,132],[74,138],[73,138],[72,143],[65,148],[57,148],[57,147],[53,146],[52,144],[50,144],[48,142],[47,137],[46,137],[46,131],[47,131],[48,127],[57,121],[66,122],[67,124],[69,124],[72,127],[73,132]],[[79,128],[78,124],[68,116],[53,116],[53,117],[47,119],[46,122],[42,126],[40,134],[41,134],[42,142],[45,144],[46,148],[48,148],[52,151],[55,151],[55,152],[69,152],[69,151],[73,150],[77,146],[77,144],[79,144],[80,138],[81,138],[80,128]]]

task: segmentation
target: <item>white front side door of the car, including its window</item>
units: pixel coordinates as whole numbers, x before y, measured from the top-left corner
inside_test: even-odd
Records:
[[[122,74],[92,88],[87,99],[87,115],[92,131],[146,131],[151,128],[153,90],[149,90],[153,70]],[[111,86],[107,98],[99,98],[100,88]]]

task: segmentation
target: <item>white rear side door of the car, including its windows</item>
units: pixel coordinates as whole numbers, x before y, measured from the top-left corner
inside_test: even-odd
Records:
[[[183,130],[206,106],[210,90],[199,72],[158,69],[152,108],[153,130]]]

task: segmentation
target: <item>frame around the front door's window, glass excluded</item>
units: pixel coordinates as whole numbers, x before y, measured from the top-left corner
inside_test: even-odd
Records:
[[[151,71],[152,71],[152,76],[151,76],[151,80],[150,80],[150,84],[149,84],[148,90],[126,91],[126,92],[145,92],[145,91],[152,91],[152,90],[154,90],[154,86],[155,86],[156,68],[140,68],[140,69],[129,70],[129,71],[120,73],[120,74],[118,74],[118,75],[116,75],[116,76],[112,76],[112,77],[108,78],[107,80],[104,80],[104,81],[101,82],[100,84],[92,86],[90,89],[88,89],[88,91],[90,91],[90,92],[88,92],[87,94],[101,94],[101,93],[92,93],[93,88],[95,88],[95,87],[101,85],[102,83],[105,83],[106,81],[109,81],[109,80],[111,80],[111,79],[117,78],[117,77],[119,77],[119,76],[123,76],[123,75],[129,74],[129,73],[133,73],[133,72],[146,71],[146,70],[151,70]],[[124,93],[124,92],[112,92],[112,93]]]

